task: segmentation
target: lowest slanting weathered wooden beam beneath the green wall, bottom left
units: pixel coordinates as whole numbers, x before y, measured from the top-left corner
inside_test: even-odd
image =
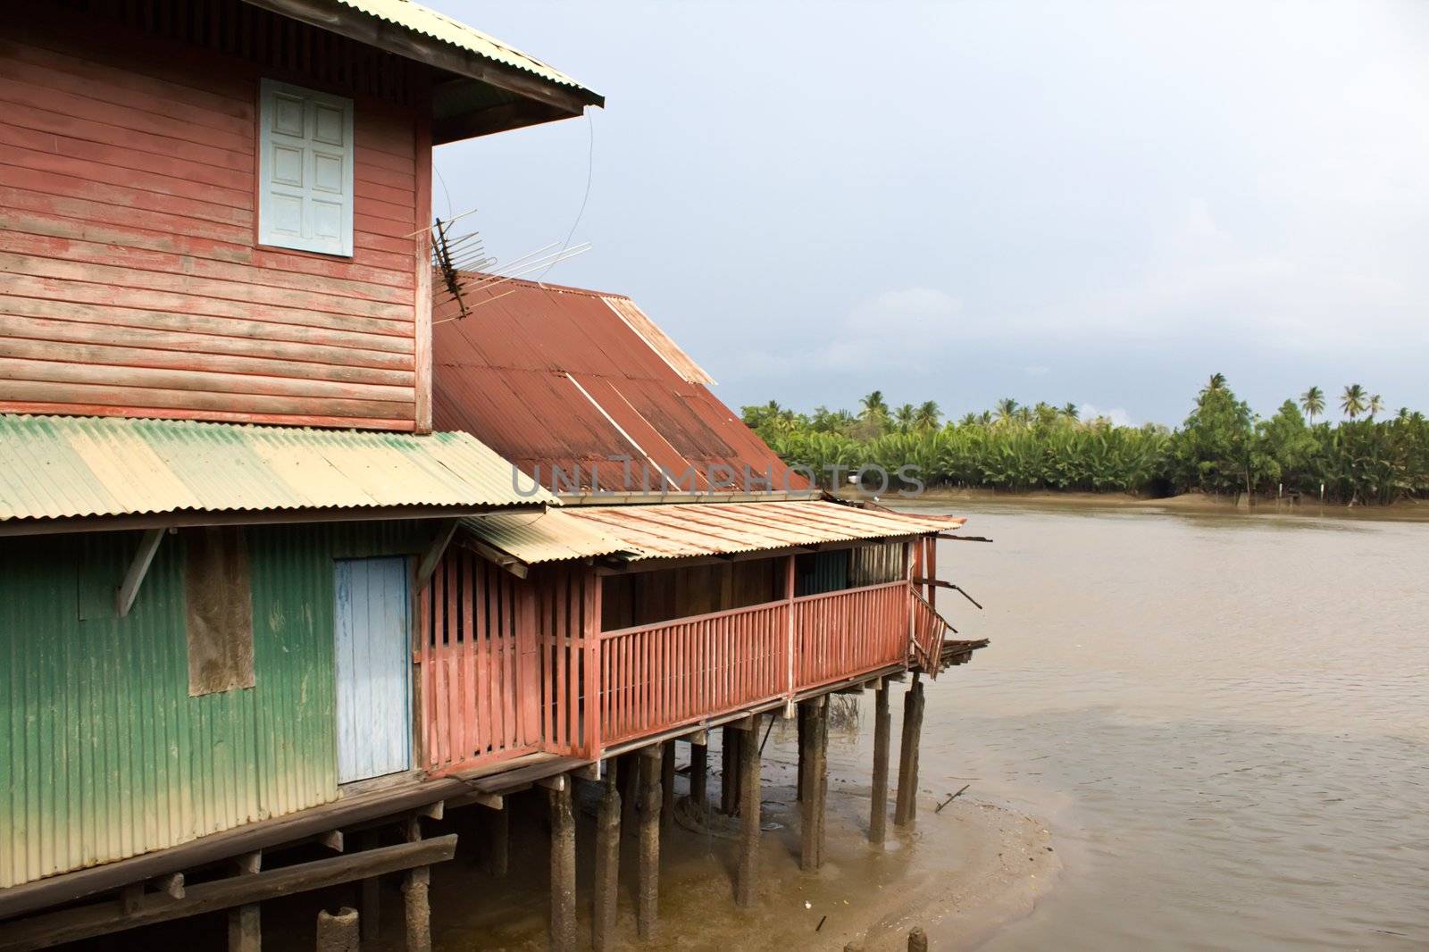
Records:
[[[201,882],[189,886],[183,899],[144,896],[133,912],[124,912],[114,902],[49,912],[31,919],[0,925],[0,952],[44,949],[61,942],[77,942],[156,922],[231,909],[294,892],[323,889],[379,873],[443,862],[452,859],[454,853],[456,835],[450,835],[419,843],[399,843],[296,866],[283,866],[252,876]]]

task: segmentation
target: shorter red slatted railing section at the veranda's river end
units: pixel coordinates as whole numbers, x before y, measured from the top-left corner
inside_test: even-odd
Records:
[[[907,658],[907,582],[795,599],[795,689]]]

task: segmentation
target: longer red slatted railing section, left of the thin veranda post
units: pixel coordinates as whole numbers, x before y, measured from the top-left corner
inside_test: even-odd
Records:
[[[603,632],[602,745],[779,698],[787,649],[787,602]]]

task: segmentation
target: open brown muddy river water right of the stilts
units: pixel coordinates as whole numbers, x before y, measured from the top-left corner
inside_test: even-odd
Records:
[[[927,692],[922,786],[1065,868],[985,948],[1429,948],[1429,526],[956,509],[986,610],[939,605],[993,646]]]

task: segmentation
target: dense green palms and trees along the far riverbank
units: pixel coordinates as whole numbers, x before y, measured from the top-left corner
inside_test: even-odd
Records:
[[[770,400],[743,407],[745,422],[789,465],[826,480],[830,467],[895,473],[917,467],[929,486],[1012,492],[1082,490],[1173,496],[1303,493],[1365,505],[1429,492],[1429,420],[1385,415],[1379,395],[1355,383],[1339,396],[1343,419],[1326,419],[1328,397],[1309,387],[1262,417],[1236,399],[1223,375],[1196,395],[1176,429],[1082,419],[1066,403],[999,400],[992,410],[943,419],[937,403],[890,407],[882,390],[857,412],[796,413]]]

